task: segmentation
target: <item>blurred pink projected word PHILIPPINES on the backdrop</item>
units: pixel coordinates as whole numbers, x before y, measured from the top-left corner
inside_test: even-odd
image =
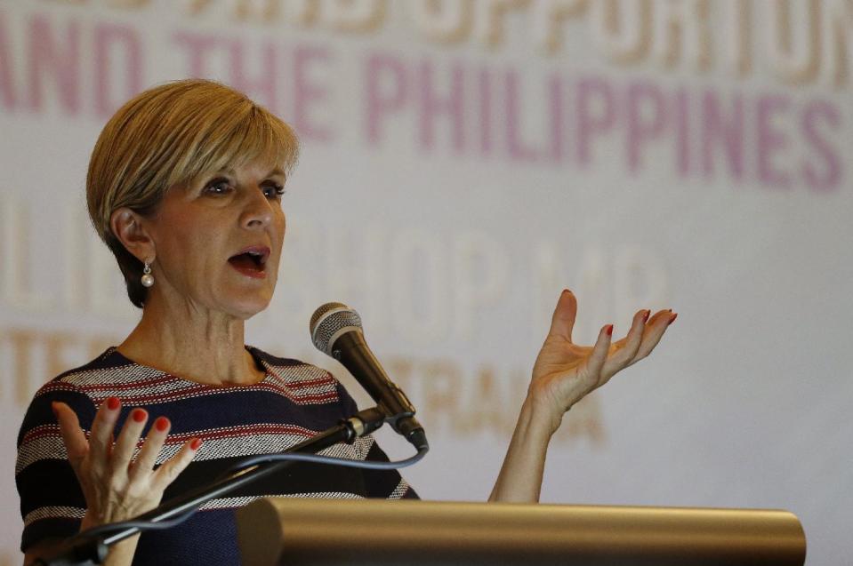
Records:
[[[459,159],[620,167],[630,175],[669,171],[775,188],[829,191],[843,184],[844,124],[828,101],[816,106],[774,92],[669,87],[651,79],[532,76],[388,53],[367,60],[365,83],[365,136],[373,146],[404,143]],[[445,85],[440,114],[436,84]],[[451,127],[437,130],[437,117]]]

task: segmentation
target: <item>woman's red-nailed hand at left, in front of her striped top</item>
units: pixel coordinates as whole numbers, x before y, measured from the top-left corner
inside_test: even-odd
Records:
[[[169,419],[158,417],[154,421],[134,458],[133,452],[149,419],[148,411],[140,408],[130,411],[114,440],[121,403],[110,397],[95,414],[87,440],[76,413],[67,404],[52,403],[52,409],[60,424],[68,462],[86,499],[81,530],[126,521],[156,507],[165,488],[189,466],[201,446],[197,438],[184,442],[177,454],[155,470],[157,455],[172,426]]]

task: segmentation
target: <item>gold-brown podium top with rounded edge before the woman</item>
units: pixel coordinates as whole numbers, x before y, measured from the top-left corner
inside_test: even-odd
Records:
[[[264,498],[237,510],[246,566],[802,566],[786,511]]]

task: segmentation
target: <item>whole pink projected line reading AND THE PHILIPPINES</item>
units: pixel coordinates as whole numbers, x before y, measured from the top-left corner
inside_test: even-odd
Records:
[[[842,140],[849,139],[849,115],[832,96],[707,81],[672,85],[655,73],[578,73],[440,52],[347,51],[283,44],[272,35],[177,28],[151,38],[132,24],[44,12],[19,16],[17,26],[0,12],[6,112],[102,120],[148,84],[212,76],[283,116],[303,141],[360,139],[376,153],[409,148],[423,158],[721,186],[827,193],[848,182]],[[168,71],[163,49],[171,56]],[[146,76],[147,63],[169,74]]]

